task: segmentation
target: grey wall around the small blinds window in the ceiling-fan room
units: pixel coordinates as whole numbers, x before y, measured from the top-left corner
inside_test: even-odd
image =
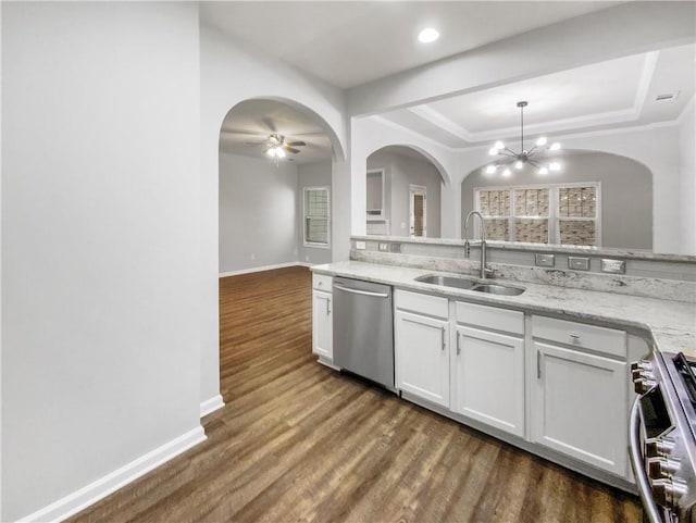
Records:
[[[316,162],[299,165],[297,169],[298,182],[297,182],[297,260],[302,263],[311,263],[316,265],[319,263],[330,263],[332,261],[332,247],[334,238],[330,239],[330,248],[324,249],[321,247],[306,247],[304,246],[304,223],[303,223],[303,198],[304,187],[328,187],[328,194],[331,197],[331,213],[333,214],[334,201],[345,198],[343,195],[336,195],[332,190],[332,162]],[[341,240],[344,238],[340,238]]]

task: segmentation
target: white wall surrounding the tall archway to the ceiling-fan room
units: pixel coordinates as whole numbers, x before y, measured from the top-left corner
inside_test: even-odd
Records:
[[[201,402],[220,394],[217,320],[217,180],[220,127],[227,112],[250,98],[273,98],[301,105],[316,114],[333,138],[335,190],[348,194],[344,92],[309,78],[286,63],[256,54],[206,24],[200,26],[200,238],[199,275],[201,325]],[[335,204],[333,228],[345,236],[334,244],[334,256],[348,254],[350,206]],[[336,234],[334,234],[336,237]]]

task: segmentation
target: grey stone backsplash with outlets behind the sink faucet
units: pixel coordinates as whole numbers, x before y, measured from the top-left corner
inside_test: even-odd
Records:
[[[364,245],[364,249],[358,249],[358,245]],[[515,247],[518,248],[510,244],[487,244],[487,262],[489,269],[494,270],[493,278],[696,303],[696,259],[691,260],[693,257],[563,247],[554,249],[549,246],[530,245]],[[554,254],[554,265],[536,266],[537,253]],[[467,259],[461,241],[423,241],[394,237],[356,236],[351,238],[350,250],[351,260],[472,276],[478,273],[480,256],[475,242]],[[588,259],[587,270],[569,269],[569,257]],[[602,260],[623,261],[625,273],[602,272]]]

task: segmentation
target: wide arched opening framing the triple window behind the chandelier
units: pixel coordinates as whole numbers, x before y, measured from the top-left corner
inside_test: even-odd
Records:
[[[476,167],[461,183],[460,220],[480,211],[487,238],[501,241],[652,249],[649,169],[594,150],[566,150],[562,165],[509,177]]]

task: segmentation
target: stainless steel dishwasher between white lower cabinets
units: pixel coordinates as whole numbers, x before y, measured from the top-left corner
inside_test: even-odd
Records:
[[[391,391],[391,287],[334,276],[334,363]]]

